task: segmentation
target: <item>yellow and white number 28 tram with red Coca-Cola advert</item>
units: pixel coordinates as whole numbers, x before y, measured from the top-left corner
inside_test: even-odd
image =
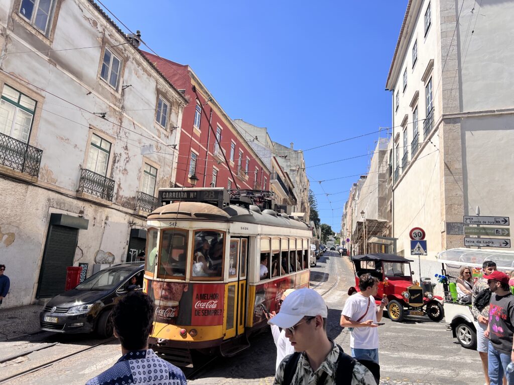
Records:
[[[262,191],[161,188],[159,200],[147,219],[143,291],[155,301],[150,345],[170,361],[234,355],[285,290],[308,287],[311,229],[266,209]]]

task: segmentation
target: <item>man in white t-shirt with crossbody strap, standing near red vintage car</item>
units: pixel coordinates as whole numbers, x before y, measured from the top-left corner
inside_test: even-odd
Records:
[[[389,303],[383,297],[377,308],[374,296],[378,291],[378,279],[371,274],[359,278],[360,292],[350,296],[341,312],[341,326],[351,328],[350,348],[352,357],[378,362],[378,331],[375,329],[382,319],[383,309]]]

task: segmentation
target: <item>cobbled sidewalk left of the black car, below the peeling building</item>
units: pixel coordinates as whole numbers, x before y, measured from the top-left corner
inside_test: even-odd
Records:
[[[40,331],[39,313],[43,305],[0,307],[0,341],[12,340]]]

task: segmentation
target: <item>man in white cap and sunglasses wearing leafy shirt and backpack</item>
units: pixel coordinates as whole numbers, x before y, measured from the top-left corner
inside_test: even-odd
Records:
[[[285,357],[274,384],[375,385],[373,374],[343,353],[326,335],[328,309],[321,295],[309,288],[289,294],[268,323],[285,330],[295,353]]]

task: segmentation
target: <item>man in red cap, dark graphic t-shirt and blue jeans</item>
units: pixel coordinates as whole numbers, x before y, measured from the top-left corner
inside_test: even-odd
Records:
[[[514,385],[514,372],[507,366],[514,361],[514,296],[510,293],[509,277],[502,272],[484,275],[492,292],[489,302],[489,326],[484,335],[489,338],[488,372],[491,385],[500,385],[503,375]]]

